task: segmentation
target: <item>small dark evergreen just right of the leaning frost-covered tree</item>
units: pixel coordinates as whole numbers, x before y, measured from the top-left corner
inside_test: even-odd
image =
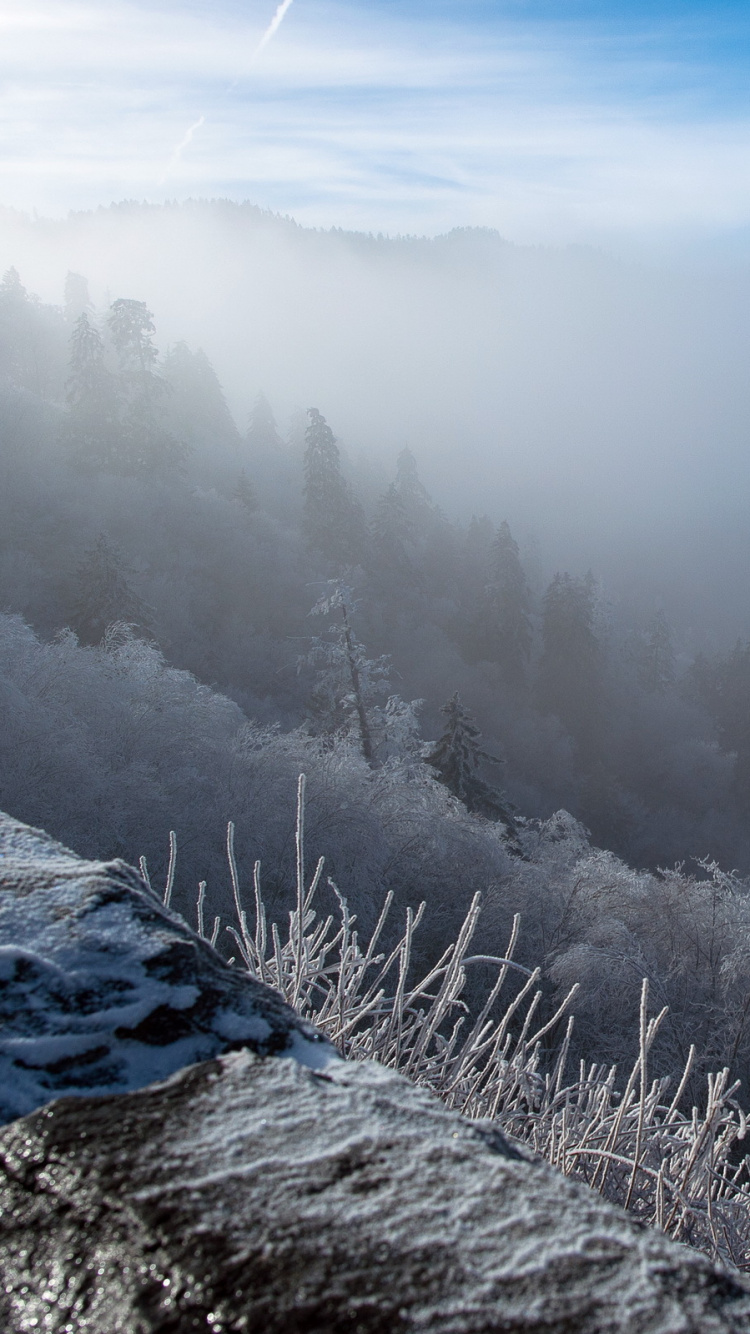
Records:
[[[482,734],[462,704],[458,691],[443,704],[440,712],[446,716],[446,727],[424,762],[436,771],[438,782],[458,796],[468,811],[502,820],[510,831],[515,831],[515,820],[507,803],[478,772],[483,763],[502,762],[479,744]]]

